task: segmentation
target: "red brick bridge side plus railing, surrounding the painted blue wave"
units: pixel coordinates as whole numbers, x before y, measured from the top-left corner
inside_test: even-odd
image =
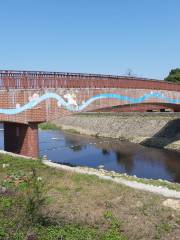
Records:
[[[82,104],[101,93],[116,93],[138,98],[151,91],[164,94],[172,99],[180,99],[180,84],[165,81],[97,74],[0,71],[0,109],[14,109],[23,106],[30,101],[34,94],[42,96],[47,92],[57,93],[62,98],[65,94],[71,93],[76,96],[76,102]],[[151,98],[144,103],[151,103],[151,106],[159,103],[163,106],[164,102],[158,98]],[[129,102],[126,100],[99,99],[83,111],[127,104]],[[175,109],[175,106],[172,105],[170,108]],[[137,106],[123,109],[124,111],[126,109],[127,111],[140,110]],[[178,109],[176,107],[177,111],[179,111]],[[19,114],[0,114],[0,121],[28,124],[29,122],[50,121],[68,114],[71,112],[63,107],[58,107],[56,100],[48,99]]]

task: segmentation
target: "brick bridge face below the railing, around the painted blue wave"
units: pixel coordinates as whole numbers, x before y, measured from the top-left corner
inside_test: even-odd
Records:
[[[47,92],[53,92],[61,96],[65,101],[64,95],[71,93],[75,96],[75,100],[78,104],[82,104],[89,98],[102,94],[102,93],[116,93],[128,97],[138,98],[146,93],[149,93],[149,89],[135,89],[135,88],[49,88],[49,89],[10,89],[0,90],[0,109],[14,109],[18,106],[23,106],[29,102],[29,99],[34,95],[42,96]],[[157,93],[164,94],[166,97],[171,99],[180,99],[180,91],[167,91],[167,90],[156,90]],[[165,101],[158,98],[151,98],[146,100],[144,103],[163,103]],[[127,105],[127,100],[119,101],[117,99],[99,99],[92,102],[83,111],[93,111],[96,109],[108,108],[118,105]],[[163,105],[163,104],[162,104]],[[176,105],[179,106],[179,105]],[[170,106],[175,108],[175,106]],[[177,108],[178,109],[178,108]],[[57,100],[47,99],[40,104],[36,105],[32,109],[23,111],[15,115],[0,114],[1,122],[17,122],[27,124],[29,122],[45,122],[53,119],[57,119],[61,116],[71,114],[63,107],[59,107]]]

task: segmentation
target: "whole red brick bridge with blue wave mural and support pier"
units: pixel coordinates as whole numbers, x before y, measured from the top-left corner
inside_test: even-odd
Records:
[[[82,111],[180,111],[180,84],[129,76],[0,71],[6,151],[37,157],[38,124]]]

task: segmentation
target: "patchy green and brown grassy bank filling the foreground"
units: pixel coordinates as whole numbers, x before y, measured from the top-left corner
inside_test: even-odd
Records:
[[[29,192],[27,179],[45,186],[45,223],[28,224],[19,207]],[[37,183],[36,181],[36,183]],[[168,206],[177,201],[135,190],[112,181],[45,166],[41,161],[0,156],[0,236],[9,239],[177,239],[180,211]],[[30,185],[30,187],[32,187]],[[30,189],[32,191],[32,189]],[[24,198],[23,198],[24,199]],[[175,203],[175,202],[174,202]],[[20,204],[20,205],[19,205]],[[174,204],[175,205],[175,204]],[[17,224],[18,221],[18,224]],[[8,235],[9,234],[9,235]],[[16,235],[16,238],[13,236]],[[13,236],[13,237],[12,237]],[[18,236],[18,237],[17,237]],[[8,239],[8,238],[2,239]]]

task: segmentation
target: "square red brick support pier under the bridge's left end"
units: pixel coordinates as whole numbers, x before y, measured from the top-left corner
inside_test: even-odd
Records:
[[[28,157],[39,156],[38,124],[4,123],[4,149]]]

